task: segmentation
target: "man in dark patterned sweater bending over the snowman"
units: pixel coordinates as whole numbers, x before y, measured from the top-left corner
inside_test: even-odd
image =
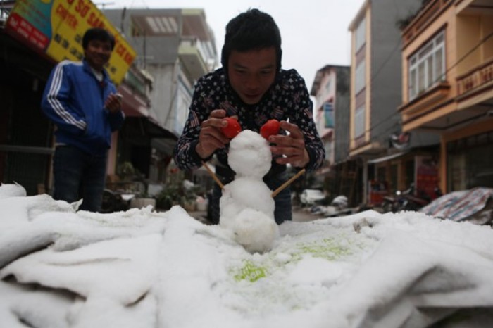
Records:
[[[323,164],[325,150],[313,122],[313,103],[303,78],[294,69],[281,69],[281,36],[273,18],[249,9],[226,26],[222,68],[201,77],[194,90],[189,118],[175,146],[182,170],[199,168],[216,155],[216,175],[227,184],[235,177],[227,164],[230,138],[222,131],[228,116],[243,130],[259,132],[268,120],[280,121],[280,133],[268,141],[273,163],[263,177],[272,190],[287,181],[286,165],[307,171]],[[213,187],[212,222],[218,223],[221,189]],[[277,224],[292,220],[291,191],[274,198]]]

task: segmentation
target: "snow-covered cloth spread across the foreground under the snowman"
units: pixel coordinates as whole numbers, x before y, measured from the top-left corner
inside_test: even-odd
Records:
[[[251,254],[179,206],[0,199],[1,327],[488,327],[492,270],[492,229],[423,213],[285,222]]]

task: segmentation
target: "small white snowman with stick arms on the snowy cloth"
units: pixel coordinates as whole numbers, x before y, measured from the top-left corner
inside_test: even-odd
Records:
[[[271,160],[268,141],[257,132],[243,130],[230,141],[227,163],[236,175],[224,186],[219,224],[250,253],[269,251],[279,236],[272,191],[262,179]]]

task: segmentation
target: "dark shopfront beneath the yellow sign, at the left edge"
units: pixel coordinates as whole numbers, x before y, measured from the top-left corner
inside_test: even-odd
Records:
[[[51,125],[39,108],[54,63],[0,29],[0,182],[28,194],[49,182]]]

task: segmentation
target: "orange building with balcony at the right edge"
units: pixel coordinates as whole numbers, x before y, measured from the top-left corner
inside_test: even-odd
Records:
[[[403,132],[439,134],[443,191],[493,187],[493,1],[426,1],[402,43]]]

